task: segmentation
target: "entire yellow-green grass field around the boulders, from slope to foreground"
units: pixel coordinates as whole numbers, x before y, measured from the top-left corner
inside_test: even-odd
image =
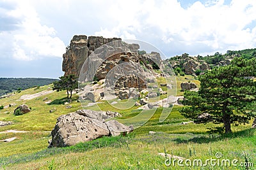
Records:
[[[177,86],[182,81],[198,81],[191,77],[178,76]],[[51,130],[56,124],[56,118],[81,109],[81,103],[77,102],[77,96],[72,97],[72,108],[65,108],[65,92],[52,92],[45,96],[28,101],[19,101],[24,94],[35,94],[46,90],[51,85],[40,89],[28,89],[15,94],[10,98],[0,99],[0,105],[28,104],[31,112],[15,116],[12,106],[0,110],[1,121],[12,121],[13,125],[0,127],[0,132],[6,130],[26,131],[25,133],[0,133],[0,140],[16,137],[10,143],[0,143],[0,169],[245,169],[241,166],[205,166],[205,167],[181,167],[176,164],[166,166],[165,157],[158,153],[169,153],[186,159],[216,159],[215,154],[221,152],[221,159],[230,159],[240,162],[253,162],[256,167],[256,136],[255,130],[250,124],[232,126],[234,134],[218,135],[208,134],[209,127],[215,124],[186,124],[188,119],[179,113],[180,106],[174,106],[172,112],[164,120],[159,122],[163,108],[157,108],[154,115],[146,124],[135,129],[127,136],[104,137],[87,143],[79,143],[67,148],[47,148],[47,141],[51,139]],[[179,95],[182,92],[177,90]],[[47,97],[52,103],[45,104],[43,99]],[[56,108],[50,113],[49,110]],[[116,110],[107,102],[100,103],[102,110],[119,111],[122,113],[120,121],[138,115],[141,110],[133,106],[129,110]],[[97,110],[97,106],[90,109]],[[156,132],[148,134],[149,131]],[[243,153],[243,154],[241,154]],[[238,164],[238,163],[237,163]]]

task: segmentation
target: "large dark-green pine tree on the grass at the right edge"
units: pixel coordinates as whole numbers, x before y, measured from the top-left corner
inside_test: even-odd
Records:
[[[223,124],[225,133],[232,132],[231,124],[248,123],[255,117],[256,81],[248,78],[256,74],[255,63],[256,59],[236,58],[230,66],[199,76],[200,90],[184,94],[182,115],[197,123]]]

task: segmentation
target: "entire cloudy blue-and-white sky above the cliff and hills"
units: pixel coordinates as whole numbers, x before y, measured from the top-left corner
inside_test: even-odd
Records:
[[[138,39],[167,57],[256,48],[256,1],[0,0],[0,77],[58,78],[74,34]]]

